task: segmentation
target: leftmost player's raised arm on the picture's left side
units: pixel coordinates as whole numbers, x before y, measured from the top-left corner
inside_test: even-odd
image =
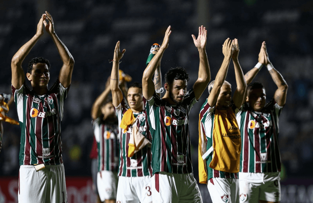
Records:
[[[22,62],[24,61],[25,57],[28,55],[30,50],[33,48],[33,46],[36,44],[38,39],[43,36],[44,34],[44,24],[43,21],[45,19],[45,16],[42,15],[38,25],[37,25],[37,32],[36,34],[28,41],[26,42],[19,50],[16,52],[12,58],[11,61],[11,70],[12,70],[12,85],[14,88],[19,89],[22,87],[24,81],[25,81],[25,75],[22,68]]]

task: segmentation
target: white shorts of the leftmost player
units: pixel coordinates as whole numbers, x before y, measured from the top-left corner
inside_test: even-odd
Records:
[[[34,166],[20,166],[18,175],[19,203],[67,202],[63,164],[45,166],[46,168],[38,172]]]

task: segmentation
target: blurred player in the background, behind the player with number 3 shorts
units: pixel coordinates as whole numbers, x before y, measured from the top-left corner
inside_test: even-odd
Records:
[[[97,189],[100,200],[105,203],[116,202],[116,172],[119,159],[117,118],[112,101],[107,101],[110,92],[109,77],[105,90],[97,97],[91,109],[98,151]]]

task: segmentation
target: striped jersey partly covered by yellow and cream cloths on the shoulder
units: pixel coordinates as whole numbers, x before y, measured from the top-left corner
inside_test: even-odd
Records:
[[[118,118],[119,126],[124,113],[129,109],[129,106],[122,99],[119,106],[115,107],[116,116]],[[149,125],[147,121],[146,110],[140,113],[133,113],[136,121],[133,125],[137,125],[138,131],[146,136],[151,141],[151,134],[149,132]],[[118,176],[137,177],[137,176],[152,176],[151,169],[151,148],[143,147],[137,151],[132,157],[128,157],[128,143],[131,136],[132,126],[124,133],[124,129],[119,127],[120,138],[120,163]]]

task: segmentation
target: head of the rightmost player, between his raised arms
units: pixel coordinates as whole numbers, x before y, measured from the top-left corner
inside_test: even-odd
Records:
[[[254,111],[262,111],[265,106],[266,93],[264,88],[248,90],[246,102]]]

